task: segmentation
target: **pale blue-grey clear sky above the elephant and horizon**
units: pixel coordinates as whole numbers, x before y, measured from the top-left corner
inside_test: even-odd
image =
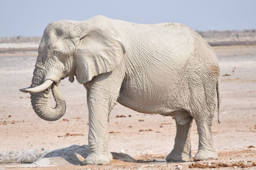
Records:
[[[50,22],[95,15],[200,31],[255,29],[256,0],[0,0],[0,37],[42,36]]]

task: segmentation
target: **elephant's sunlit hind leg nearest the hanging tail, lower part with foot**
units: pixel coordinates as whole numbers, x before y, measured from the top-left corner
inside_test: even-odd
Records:
[[[198,120],[195,119],[199,135],[198,152],[194,161],[218,159],[218,153],[215,151],[212,140],[212,117]]]

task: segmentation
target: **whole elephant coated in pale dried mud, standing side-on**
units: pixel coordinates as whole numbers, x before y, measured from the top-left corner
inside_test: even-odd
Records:
[[[74,76],[87,91],[90,153],[85,165],[112,161],[109,114],[116,102],[140,113],[175,118],[174,147],[166,161],[192,159],[194,119],[199,135],[194,161],[218,159],[211,127],[216,94],[220,123],[219,63],[213,49],[191,28],[104,16],[52,22],[38,48],[32,84],[20,91],[30,92],[40,118],[56,121],[66,111],[58,85],[68,77],[72,83]],[[51,89],[55,108],[48,104]]]

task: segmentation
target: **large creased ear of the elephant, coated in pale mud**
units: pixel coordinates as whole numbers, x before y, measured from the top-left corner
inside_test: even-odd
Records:
[[[118,34],[107,26],[91,26],[80,38],[76,53],[76,79],[80,84],[112,71],[125,53]]]

